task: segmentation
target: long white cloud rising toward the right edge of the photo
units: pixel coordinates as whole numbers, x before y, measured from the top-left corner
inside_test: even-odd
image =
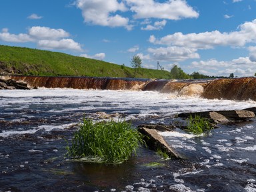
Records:
[[[239,31],[231,33],[221,33],[211,31],[204,33],[174,33],[161,39],[156,39],[153,35],[149,42],[157,45],[171,45],[179,47],[190,47],[198,49],[213,48],[216,46],[242,47],[246,43],[256,42],[256,19],[252,22],[245,22],[239,26]]]

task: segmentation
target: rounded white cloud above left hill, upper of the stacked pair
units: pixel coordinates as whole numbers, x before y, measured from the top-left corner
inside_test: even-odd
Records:
[[[63,29],[51,29],[49,27],[31,27],[29,35],[35,39],[60,39],[69,37],[69,33]]]

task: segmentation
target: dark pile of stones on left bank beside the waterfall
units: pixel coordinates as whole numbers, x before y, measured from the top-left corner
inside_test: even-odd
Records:
[[[29,90],[29,86],[25,82],[17,82],[11,78],[5,80],[4,78],[0,78],[0,89],[21,89],[21,90]]]

